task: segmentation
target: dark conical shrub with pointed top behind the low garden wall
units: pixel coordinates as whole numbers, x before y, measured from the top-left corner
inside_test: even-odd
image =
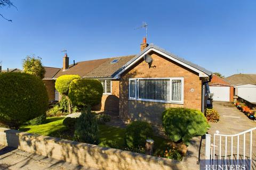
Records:
[[[97,118],[87,107],[82,111],[75,124],[74,140],[98,145],[98,131]]]

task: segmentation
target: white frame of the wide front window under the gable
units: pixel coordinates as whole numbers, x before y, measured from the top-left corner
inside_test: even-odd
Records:
[[[138,81],[139,80],[145,80],[145,79],[169,79],[170,80],[170,99],[168,101],[166,100],[154,100],[154,99],[141,99],[138,98]],[[130,90],[130,83],[131,80],[135,80],[135,98],[130,97],[131,96],[131,90]],[[172,99],[172,80],[181,80],[181,100],[171,100]],[[184,104],[184,78],[183,77],[171,77],[171,78],[130,78],[129,79],[129,100],[137,100],[137,101],[151,101],[151,102],[158,102],[158,103],[172,103],[172,104]]]

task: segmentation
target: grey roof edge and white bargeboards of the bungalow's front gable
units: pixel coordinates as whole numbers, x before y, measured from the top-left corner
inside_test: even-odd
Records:
[[[137,60],[139,57],[141,57],[141,55],[142,55],[143,53],[147,52],[147,51],[148,51],[149,49],[151,49],[151,48],[152,48],[152,49],[156,49],[156,50],[158,50],[159,52],[162,52],[162,53],[166,54],[167,56],[170,56],[170,57],[174,58],[175,60],[177,60],[177,61],[179,61],[179,62],[181,62],[181,63],[184,63],[184,64],[186,64],[186,65],[188,65],[188,66],[191,66],[192,68],[197,69],[197,70],[199,70],[199,71],[201,71],[201,72],[203,72],[203,73],[205,73],[205,74],[207,74],[207,75],[209,75],[209,76],[212,75],[212,72],[211,72],[211,71],[206,70],[206,69],[204,69],[203,67],[201,67],[201,66],[199,66],[199,65],[196,65],[196,64],[194,64],[194,63],[191,63],[191,62],[185,60],[184,58],[178,57],[177,55],[174,55],[174,54],[172,54],[172,53],[170,53],[170,52],[167,52],[165,49],[160,48],[160,47],[158,47],[158,46],[156,46],[156,45],[154,45],[154,44],[150,44],[148,47],[146,47],[144,50],[142,50],[142,52],[140,52],[140,54],[138,54],[137,56],[135,56],[131,61],[127,62],[123,67],[121,67],[121,69],[119,69],[119,70],[115,73],[115,75],[118,75],[118,74],[122,73],[122,71],[125,69],[125,67],[129,66],[131,63],[133,63],[135,60]]]

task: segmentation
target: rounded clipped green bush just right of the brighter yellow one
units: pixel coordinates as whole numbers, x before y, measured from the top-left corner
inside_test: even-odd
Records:
[[[70,83],[68,97],[78,107],[95,106],[101,103],[103,87],[99,80],[76,79]]]

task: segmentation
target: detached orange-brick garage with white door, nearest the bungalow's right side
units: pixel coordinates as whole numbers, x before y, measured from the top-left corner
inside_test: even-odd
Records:
[[[228,81],[213,74],[209,87],[213,101],[234,101],[234,87]]]

